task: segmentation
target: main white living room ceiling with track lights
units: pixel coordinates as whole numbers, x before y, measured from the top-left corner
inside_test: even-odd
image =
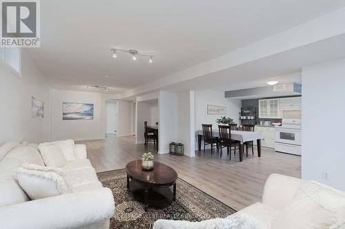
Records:
[[[44,0],[41,48],[28,52],[53,87],[100,85],[119,93],[344,6],[344,0]],[[157,57],[152,64],[122,53],[114,59],[112,47]]]

